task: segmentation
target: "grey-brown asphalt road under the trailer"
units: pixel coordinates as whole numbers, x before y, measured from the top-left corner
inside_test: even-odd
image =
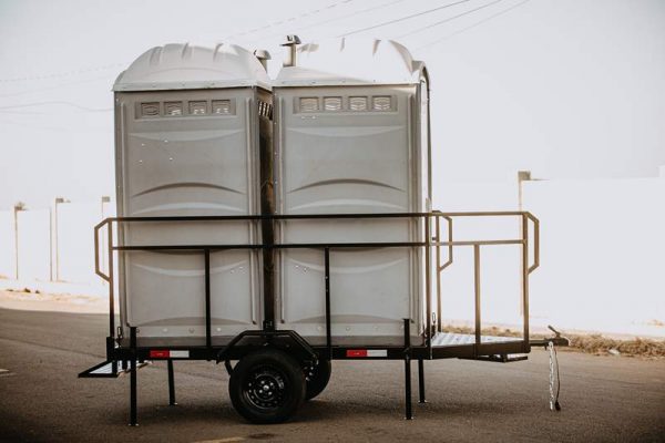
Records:
[[[106,317],[0,309],[0,441],[665,441],[665,361],[560,352],[559,413],[548,409],[548,354],[501,364],[426,362],[427,404],[403,420],[403,363],[334,362],[328,389],[295,420],[252,425],[231,406],[227,374],[176,363],[139,372],[139,427],[129,378],[76,379],[104,357]],[[413,364],[416,369],[416,364]],[[417,371],[413,371],[416,375]],[[413,377],[417,395],[417,377]]]

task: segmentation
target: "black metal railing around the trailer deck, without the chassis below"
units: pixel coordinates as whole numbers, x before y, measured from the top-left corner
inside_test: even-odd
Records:
[[[500,239],[500,240],[454,240],[453,239],[453,219],[468,217],[519,217],[521,219],[521,236],[520,238]],[[113,243],[113,225],[127,223],[177,223],[177,222],[282,222],[294,219],[411,219],[422,220],[423,235],[422,241],[366,241],[366,243],[297,243],[297,244],[232,244],[232,245],[114,245]],[[431,237],[431,224],[434,223],[434,237]],[[448,225],[448,238],[441,240],[441,219]],[[529,225],[533,224],[533,264],[529,264]],[[106,227],[108,241],[108,274],[104,274],[100,268],[100,230]],[[419,228],[420,229],[420,228]],[[426,330],[424,339],[431,356],[431,338],[433,336],[432,328],[432,293],[431,293],[431,248],[436,248],[436,295],[437,295],[437,331],[442,331],[441,313],[442,313],[442,293],[441,293],[441,272],[453,262],[453,249],[456,247],[472,247],[473,248],[473,275],[474,275],[474,354],[478,354],[481,347],[481,292],[480,292],[480,251],[484,246],[498,245],[521,245],[522,264],[521,264],[521,286],[522,286],[522,305],[523,305],[523,343],[524,351],[529,351],[529,275],[539,267],[540,264],[540,244],[539,244],[539,220],[528,212],[482,212],[482,213],[391,213],[391,214],[317,214],[317,215],[254,215],[254,216],[170,216],[170,217],[110,217],[98,224],[94,228],[94,247],[95,247],[95,274],[109,282],[109,310],[110,310],[110,338],[115,338],[115,307],[114,307],[114,253],[124,251],[157,251],[157,250],[192,250],[200,251],[204,255],[204,275],[205,275],[205,326],[206,326],[206,348],[212,349],[211,334],[211,262],[209,256],[212,251],[245,249],[245,250],[279,250],[279,249],[319,249],[324,254],[324,275],[325,275],[325,315],[326,315],[326,347],[331,356],[331,321],[330,321],[330,250],[332,249],[354,249],[354,248],[424,248],[424,278],[426,278]],[[419,230],[419,233],[422,233]],[[448,258],[441,262],[441,248],[448,248]],[[273,319],[274,320],[274,319]],[[411,319],[412,320],[412,319]],[[274,322],[273,322],[274,324]],[[264,323],[265,327],[265,323]]]

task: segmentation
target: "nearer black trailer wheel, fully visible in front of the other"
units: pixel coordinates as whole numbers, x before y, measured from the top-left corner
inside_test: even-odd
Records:
[[[231,373],[228,394],[252,423],[282,423],[305,401],[305,373],[293,357],[267,348],[241,359]]]

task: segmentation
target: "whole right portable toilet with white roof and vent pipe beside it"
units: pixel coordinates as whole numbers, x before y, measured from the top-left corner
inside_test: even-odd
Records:
[[[422,62],[386,40],[340,39],[301,45],[273,83],[276,213],[418,213],[430,209],[428,80]],[[423,241],[422,223],[294,219],[276,241]],[[324,343],[324,254],[277,255],[276,315]],[[334,344],[413,343],[426,324],[422,248],[330,251]]]

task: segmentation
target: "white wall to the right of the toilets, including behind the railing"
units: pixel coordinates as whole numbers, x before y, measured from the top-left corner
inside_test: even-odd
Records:
[[[436,207],[514,210],[518,184],[447,186]],[[541,222],[531,324],[665,337],[665,179],[532,181],[523,207]],[[519,236],[519,223],[456,222],[457,240]],[[520,324],[519,250],[481,249],[483,322]],[[442,275],[443,318],[473,319],[473,257],[456,249]]]

